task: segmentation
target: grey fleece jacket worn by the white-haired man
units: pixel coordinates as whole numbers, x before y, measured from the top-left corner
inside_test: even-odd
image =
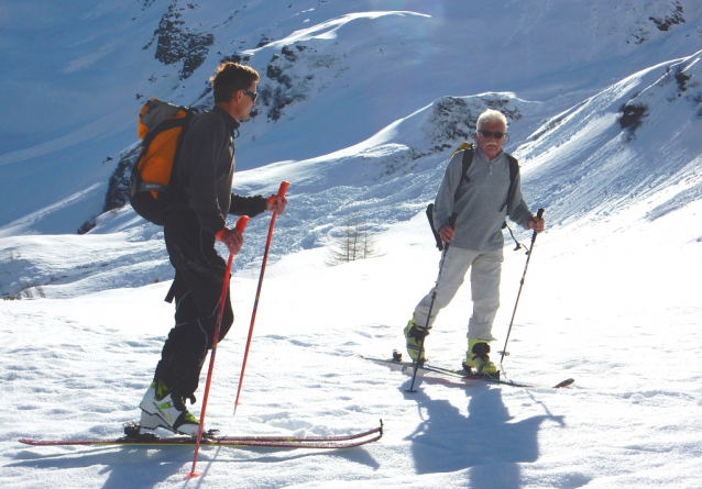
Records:
[[[438,232],[449,223],[451,214],[457,213],[451,246],[474,252],[500,249],[504,246],[502,224],[505,218],[509,215],[512,221],[528,229],[527,222],[533,216],[522,196],[522,179],[517,175],[512,195],[507,196],[509,162],[504,152],[490,162],[480,147],[475,147],[468,181],[461,180],[462,162],[463,152],[458,152],[443,174],[434,204],[434,225]],[[458,198],[454,199],[457,188]]]

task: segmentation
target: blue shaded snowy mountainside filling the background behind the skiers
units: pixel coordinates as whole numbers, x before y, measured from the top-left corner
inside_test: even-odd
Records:
[[[78,0],[61,11],[44,2],[32,22],[42,9],[11,5],[0,235],[72,233],[100,213],[144,99],[207,107],[206,80],[223,58],[263,76],[257,115],[238,141],[244,169],[352,146],[440,97],[574,101],[702,47],[694,0],[376,1],[372,10],[357,0]]]

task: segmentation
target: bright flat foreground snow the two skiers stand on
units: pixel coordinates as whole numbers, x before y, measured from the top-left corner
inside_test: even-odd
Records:
[[[3,301],[0,321],[11,326],[1,333],[2,486],[696,487],[702,259],[692,230],[667,231],[684,231],[700,210],[696,203],[652,223],[632,212],[537,238],[504,368],[515,380],[577,379],[562,390],[427,375],[412,394],[409,375],[357,357],[403,349],[404,322],[436,279],[439,253],[418,215],[381,234],[382,257],[328,268],[317,248],[270,266],[233,416],[257,285],[257,274],[238,273],[237,321],[218,348],[207,425],[226,434],[326,435],[383,419],[385,435],[328,453],[201,447],[197,481],[185,479],[191,448],[17,442],[118,436],[122,422],[136,419],[171,327],[172,307],[162,301],[168,282]],[[522,252],[505,254],[501,338],[525,265]],[[438,364],[462,358],[468,311],[465,287],[427,338]]]

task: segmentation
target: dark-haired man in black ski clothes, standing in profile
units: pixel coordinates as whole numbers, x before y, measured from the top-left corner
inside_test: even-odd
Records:
[[[227,214],[254,216],[283,213],[287,200],[276,195],[241,197],[232,193],[234,134],[238,120],[249,119],[256,101],[259,74],[250,67],[223,63],[210,79],[215,92],[211,112],[196,115],[180,144],[172,175],[164,237],[175,279],[166,301],[175,299],[175,326],[166,340],[154,380],[140,403],[141,425],[196,435],[199,421],[186,409],[195,402],[200,370],[212,348],[217,312],[227,265],[215,240],[232,255],[243,235],[228,229]],[[227,291],[219,340],[233,323]]]

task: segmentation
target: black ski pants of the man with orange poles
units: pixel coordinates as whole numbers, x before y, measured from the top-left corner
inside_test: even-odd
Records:
[[[175,268],[166,301],[175,299],[176,311],[175,326],[163,346],[156,377],[194,402],[202,364],[212,348],[227,263],[215,249],[215,236],[200,226],[193,211],[169,212],[164,238]],[[219,341],[233,321],[227,290]]]

